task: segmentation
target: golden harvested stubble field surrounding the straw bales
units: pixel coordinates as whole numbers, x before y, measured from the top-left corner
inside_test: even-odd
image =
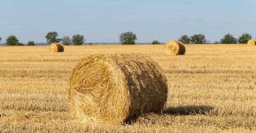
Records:
[[[185,44],[167,56],[164,45],[0,46],[0,133],[256,132],[256,47]],[[168,98],[160,115],[122,125],[79,121],[67,89],[72,69],[93,54],[143,52],[166,74]]]

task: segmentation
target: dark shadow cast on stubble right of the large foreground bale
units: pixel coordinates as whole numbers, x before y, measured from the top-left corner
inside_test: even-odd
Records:
[[[213,109],[214,107],[208,105],[169,107],[163,111],[163,115],[205,115]]]

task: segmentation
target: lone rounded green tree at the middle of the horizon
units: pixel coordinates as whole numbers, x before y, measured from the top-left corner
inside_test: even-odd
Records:
[[[133,32],[124,32],[119,35],[121,44],[135,44],[135,40],[137,40],[137,37]]]

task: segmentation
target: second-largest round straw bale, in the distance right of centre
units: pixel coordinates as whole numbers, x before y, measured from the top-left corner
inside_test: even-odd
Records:
[[[186,48],[180,41],[169,40],[164,45],[164,52],[167,55],[184,55]]]

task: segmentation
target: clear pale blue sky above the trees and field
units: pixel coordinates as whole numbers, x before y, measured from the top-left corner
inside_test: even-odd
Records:
[[[86,43],[118,43],[134,32],[137,43],[204,34],[211,43],[230,33],[256,37],[256,0],[0,0],[0,37],[22,43],[84,35]]]

